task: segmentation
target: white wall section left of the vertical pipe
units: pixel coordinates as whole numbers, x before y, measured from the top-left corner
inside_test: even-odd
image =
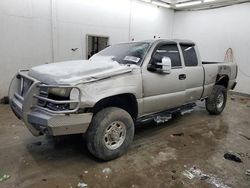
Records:
[[[49,0],[0,1],[0,99],[18,69],[51,62]]]

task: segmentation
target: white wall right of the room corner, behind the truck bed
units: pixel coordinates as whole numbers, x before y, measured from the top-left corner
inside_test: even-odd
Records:
[[[201,57],[223,61],[228,48],[239,66],[236,91],[250,94],[250,3],[203,11],[176,12],[173,38],[195,41]]]

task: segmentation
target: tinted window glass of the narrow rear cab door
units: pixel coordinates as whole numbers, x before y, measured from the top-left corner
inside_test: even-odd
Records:
[[[194,49],[194,45],[181,44],[181,50],[186,67],[194,67],[198,65],[198,59]]]

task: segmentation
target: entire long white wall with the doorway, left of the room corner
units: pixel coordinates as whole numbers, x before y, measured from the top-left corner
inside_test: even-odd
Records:
[[[86,34],[110,44],[170,38],[173,17],[137,0],[0,0],[0,99],[19,69],[85,59]]]

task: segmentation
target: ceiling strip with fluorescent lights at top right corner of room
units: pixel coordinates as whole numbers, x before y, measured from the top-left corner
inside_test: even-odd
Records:
[[[209,0],[158,0],[158,1],[165,2],[171,5],[171,8],[177,11],[211,9],[211,8],[218,8],[239,3],[250,2],[250,0],[210,0],[210,2],[206,2]],[[189,6],[184,5],[185,3],[194,3],[194,2],[201,2],[201,3]],[[178,5],[180,4],[182,4],[183,6],[179,7]]]

